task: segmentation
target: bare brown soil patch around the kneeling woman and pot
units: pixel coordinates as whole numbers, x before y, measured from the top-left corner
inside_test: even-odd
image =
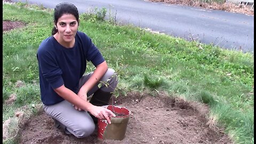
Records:
[[[31,117],[20,130],[20,143],[232,143],[228,136],[206,125],[208,108],[164,95],[130,93],[114,99],[115,105],[131,110],[125,138],[122,141],[97,138],[97,130],[78,139],[54,127],[43,110]]]

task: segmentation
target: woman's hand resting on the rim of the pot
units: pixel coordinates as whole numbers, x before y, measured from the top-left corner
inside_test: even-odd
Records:
[[[116,115],[111,110],[99,106],[93,106],[89,112],[99,119],[106,118],[109,124],[111,124],[109,116],[116,117]]]

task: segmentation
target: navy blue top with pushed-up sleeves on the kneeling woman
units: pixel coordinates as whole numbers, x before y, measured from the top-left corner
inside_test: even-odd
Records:
[[[95,67],[105,61],[86,34],[77,31],[75,39],[75,45],[71,48],[63,47],[53,36],[44,39],[39,45],[37,60],[44,105],[54,105],[64,100],[54,91],[63,84],[71,91],[78,92],[79,79],[85,73],[86,61],[91,61]]]

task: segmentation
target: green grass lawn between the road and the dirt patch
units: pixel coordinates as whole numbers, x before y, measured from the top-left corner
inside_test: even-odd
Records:
[[[3,33],[3,100],[16,94],[12,105],[3,103],[3,121],[22,106],[33,109],[40,101],[36,51],[51,35],[52,11],[25,4],[3,5],[4,20],[19,20],[26,27]],[[131,25],[119,26],[81,20],[84,31],[117,71],[118,90],[154,93],[165,91],[210,106],[211,116],[236,143],[254,139],[254,55],[223,50],[182,38],[151,34]],[[199,49],[202,47],[203,49]],[[86,72],[93,70],[91,64]],[[16,87],[17,81],[25,83]],[[116,93],[117,94],[117,93]],[[10,139],[5,143],[13,143]]]

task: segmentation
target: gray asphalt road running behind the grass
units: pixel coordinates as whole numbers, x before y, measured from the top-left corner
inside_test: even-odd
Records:
[[[54,8],[61,2],[64,1],[28,0],[30,4],[42,4],[47,8]],[[105,7],[108,11],[110,9],[111,12],[117,12],[117,22],[150,28],[188,40],[192,37],[202,43],[212,43],[223,49],[254,52],[254,16],[141,0],[66,0],[65,2],[75,4],[79,13],[87,12],[92,7]]]

